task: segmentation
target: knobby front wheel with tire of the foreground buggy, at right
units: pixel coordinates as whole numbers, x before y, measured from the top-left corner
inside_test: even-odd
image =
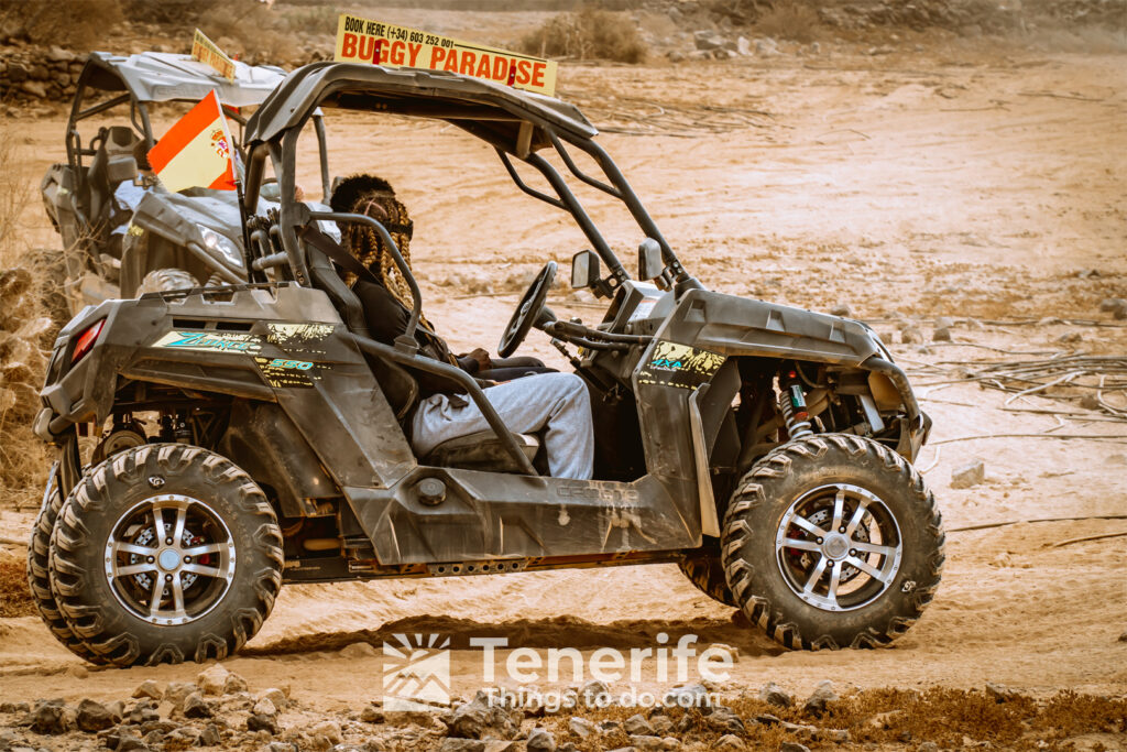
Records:
[[[823,434],[779,446],[744,476],[725,515],[721,560],[744,613],[777,642],[876,647],[931,602],[943,541],[935,499],[903,457]]]

